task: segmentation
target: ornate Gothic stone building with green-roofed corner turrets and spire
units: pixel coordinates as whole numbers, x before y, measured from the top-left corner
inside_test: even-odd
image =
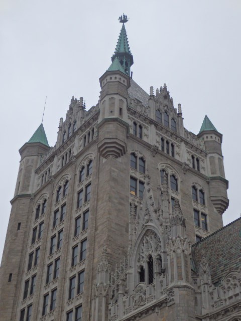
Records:
[[[241,219],[222,134],[195,135],[166,84],[133,79],[123,23],[100,97],[72,97],[55,146],[20,148],[0,274],[1,321],[241,320]]]

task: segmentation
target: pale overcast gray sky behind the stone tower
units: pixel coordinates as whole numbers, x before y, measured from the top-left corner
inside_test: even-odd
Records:
[[[182,104],[184,126],[198,133],[205,114],[223,134],[229,208],[240,216],[240,0],[1,0],[2,169],[0,258],[19,168],[19,148],[42,120],[50,145],[72,95],[98,101],[127,14],[133,78],[149,93],[164,83]]]

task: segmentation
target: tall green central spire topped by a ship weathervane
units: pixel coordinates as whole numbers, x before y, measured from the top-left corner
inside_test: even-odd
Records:
[[[127,16],[123,14],[123,16],[119,17],[119,22],[123,23],[121,33],[119,34],[118,42],[114,51],[113,56],[111,57],[112,62],[115,58],[118,59],[119,63],[122,65],[126,74],[130,76],[130,69],[133,65],[133,55],[131,53],[127,31],[125,28],[125,23],[128,22]]]

